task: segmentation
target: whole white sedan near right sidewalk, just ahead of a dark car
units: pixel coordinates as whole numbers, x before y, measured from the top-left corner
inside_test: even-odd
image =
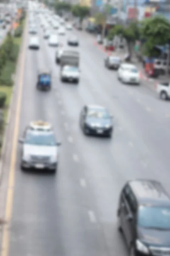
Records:
[[[118,69],[118,79],[123,83],[140,84],[140,75],[136,66],[133,64],[123,63]]]

